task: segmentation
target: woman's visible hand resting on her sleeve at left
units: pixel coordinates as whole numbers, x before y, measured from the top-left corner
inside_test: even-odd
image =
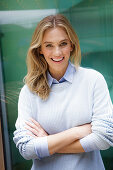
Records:
[[[30,118],[30,120],[31,122],[26,121],[27,126],[25,126],[25,128],[32,133],[27,134],[33,137],[48,136],[47,132],[41,127],[41,125],[36,120],[34,120],[33,118]]]

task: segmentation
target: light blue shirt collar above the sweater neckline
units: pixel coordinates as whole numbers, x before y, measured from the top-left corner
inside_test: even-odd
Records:
[[[76,71],[75,66],[69,61],[66,72],[65,72],[64,76],[59,81],[54,79],[50,75],[50,73],[47,72],[47,80],[48,80],[49,87],[51,87],[52,84],[58,84],[58,83],[62,83],[64,81],[68,81],[68,82],[72,83],[75,71]]]

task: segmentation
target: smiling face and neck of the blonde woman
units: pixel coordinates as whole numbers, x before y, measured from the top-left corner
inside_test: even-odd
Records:
[[[63,28],[49,28],[45,31],[40,53],[44,55],[54,78],[54,75],[63,76],[65,73],[71,51],[70,39]]]

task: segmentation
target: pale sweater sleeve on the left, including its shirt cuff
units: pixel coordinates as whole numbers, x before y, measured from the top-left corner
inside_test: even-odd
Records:
[[[30,117],[34,118],[36,113],[32,108],[31,100],[33,94],[30,95],[28,87],[25,85],[19,95],[18,101],[18,118],[16,121],[16,130],[14,131],[13,140],[20,154],[27,160],[41,159],[49,156],[47,137],[33,138],[27,134],[25,129],[25,121],[29,121]]]

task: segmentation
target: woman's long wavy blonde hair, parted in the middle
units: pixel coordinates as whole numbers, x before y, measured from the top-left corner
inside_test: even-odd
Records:
[[[29,89],[37,93],[41,99],[48,98],[50,87],[47,81],[48,64],[45,58],[40,54],[41,42],[44,32],[48,28],[62,27],[65,29],[67,35],[73,46],[70,59],[74,62],[76,68],[81,62],[81,50],[77,34],[71,27],[69,21],[61,14],[50,15],[42,19],[33,34],[30,47],[27,54],[27,75],[25,76],[25,83]]]

